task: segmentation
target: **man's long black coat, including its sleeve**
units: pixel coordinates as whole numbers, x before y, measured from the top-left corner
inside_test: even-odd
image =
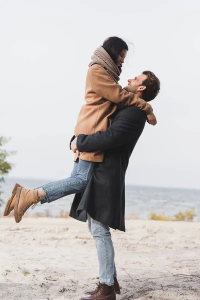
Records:
[[[124,179],[132,150],[144,128],[146,116],[135,106],[120,107],[106,131],[79,134],[79,152],[104,150],[84,193],[75,194],[70,216],[86,221],[89,215],[111,228],[125,231]]]

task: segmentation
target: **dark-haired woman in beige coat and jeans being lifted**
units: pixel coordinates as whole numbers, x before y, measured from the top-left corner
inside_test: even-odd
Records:
[[[124,62],[127,44],[119,37],[108,37],[91,56],[86,77],[85,101],[81,107],[75,126],[75,136],[80,133],[92,134],[104,131],[108,126],[109,116],[116,110],[119,102],[135,105],[144,110],[150,124],[156,124],[150,104],[127,92],[118,84],[121,66]],[[103,161],[103,152],[85,152],[75,154],[74,168],[70,177],[54,181],[33,190],[15,184],[8,199],[4,216],[14,209],[15,221],[20,222],[24,212],[40,202],[51,202],[85,189],[94,170],[95,162]]]

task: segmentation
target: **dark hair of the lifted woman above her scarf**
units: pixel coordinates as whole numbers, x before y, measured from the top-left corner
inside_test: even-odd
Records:
[[[109,54],[114,63],[116,62],[117,56],[123,49],[128,50],[126,42],[117,36],[110,36],[106,38],[102,44],[102,47]]]

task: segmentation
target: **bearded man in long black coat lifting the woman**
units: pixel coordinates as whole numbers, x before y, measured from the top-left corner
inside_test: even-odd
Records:
[[[159,88],[159,79],[150,71],[129,79],[125,87],[145,101],[154,99]],[[135,106],[121,105],[111,121],[112,124],[105,131],[91,135],[79,134],[71,143],[73,152],[105,151],[104,161],[96,163],[84,193],[75,195],[69,214],[81,221],[87,219],[99,262],[99,284],[95,291],[87,292],[91,295],[81,300],[114,300],[115,293],[120,293],[109,227],[125,231],[125,171],[144,128],[146,116]]]

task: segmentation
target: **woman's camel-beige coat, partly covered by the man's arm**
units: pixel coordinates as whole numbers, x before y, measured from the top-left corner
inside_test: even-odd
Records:
[[[134,105],[148,114],[151,105],[138,98],[132,92],[127,92],[115,82],[112,75],[101,65],[89,67],[85,83],[85,101],[78,114],[75,126],[75,136],[78,134],[93,134],[106,130],[109,116],[116,110],[117,104]],[[102,162],[103,152],[81,152],[79,158],[87,161]],[[75,159],[77,155],[75,155]]]

